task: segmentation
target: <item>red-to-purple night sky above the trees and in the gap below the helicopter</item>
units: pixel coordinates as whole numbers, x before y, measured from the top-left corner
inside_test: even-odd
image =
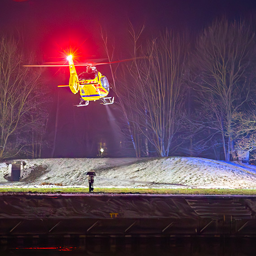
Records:
[[[37,53],[38,62],[49,61],[69,47],[78,49],[84,58],[104,58],[100,28],[115,41],[118,59],[129,57],[128,19],[135,29],[145,24],[145,35],[157,35],[166,27],[174,31],[196,33],[213,19],[249,17],[256,13],[254,0],[1,0],[0,31],[22,37],[26,51]],[[28,63],[31,64],[31,63]],[[107,67],[98,68],[109,75]],[[48,134],[53,137],[58,102],[58,128],[54,157],[93,157],[95,141],[105,140],[110,155],[116,155],[119,143],[117,106],[91,102],[77,108],[79,96],[66,88],[65,72],[49,71],[55,104],[49,119]],[[59,79],[62,79],[60,81]],[[43,89],[43,88],[42,88]],[[59,97],[59,98],[58,98]],[[59,99],[57,101],[57,99]],[[86,131],[86,132],[84,132]],[[85,145],[84,141],[88,141]],[[50,157],[50,150],[44,152]],[[112,152],[112,153],[111,153]]]

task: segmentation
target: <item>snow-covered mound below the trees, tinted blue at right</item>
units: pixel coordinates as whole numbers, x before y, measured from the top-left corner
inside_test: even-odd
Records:
[[[203,158],[24,159],[18,182],[8,181],[0,163],[0,186],[88,187],[86,173],[96,172],[94,187],[256,189],[256,166]]]

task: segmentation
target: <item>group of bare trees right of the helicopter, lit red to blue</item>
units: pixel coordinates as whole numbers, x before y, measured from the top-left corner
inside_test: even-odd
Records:
[[[137,157],[254,158],[253,22],[218,19],[193,39],[166,30],[141,42],[143,29],[130,26],[135,60],[112,70],[127,148]]]

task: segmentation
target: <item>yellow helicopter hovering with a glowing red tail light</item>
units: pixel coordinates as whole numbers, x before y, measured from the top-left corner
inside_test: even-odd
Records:
[[[88,106],[90,101],[102,101],[101,104],[109,105],[114,103],[114,97],[106,97],[109,93],[110,86],[108,79],[105,75],[102,75],[96,69],[96,65],[111,64],[118,62],[104,62],[104,63],[85,63],[76,64],[76,66],[85,66],[85,71],[77,75],[75,70],[75,64],[73,61],[73,56],[68,55],[67,57],[68,65],[57,65],[54,62],[45,63],[46,65],[24,65],[24,66],[69,66],[70,79],[68,85],[58,85],[58,87],[69,87],[71,92],[76,94],[80,93],[81,100],[76,106]],[[125,60],[126,61],[126,60]],[[122,61],[121,61],[122,62]]]

